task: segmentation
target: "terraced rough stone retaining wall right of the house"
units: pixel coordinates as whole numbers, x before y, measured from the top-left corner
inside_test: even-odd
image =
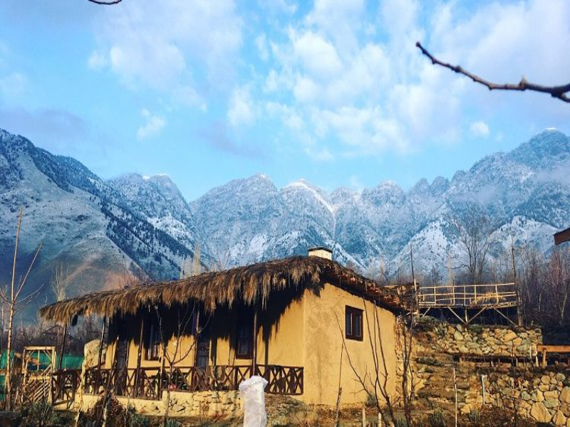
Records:
[[[535,328],[421,322],[413,357],[416,408],[455,411],[455,368],[462,413],[493,405],[540,423],[570,427],[570,367],[534,366],[537,344],[542,342],[570,339],[565,332]],[[457,355],[465,355],[465,361],[457,362]],[[510,362],[511,357],[517,362]]]

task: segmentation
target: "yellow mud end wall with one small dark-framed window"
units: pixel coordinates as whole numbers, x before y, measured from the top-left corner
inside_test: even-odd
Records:
[[[363,312],[363,341],[344,339],[346,350],[343,348],[345,336],[345,307],[355,307]],[[378,323],[373,320],[376,310]],[[368,322],[366,315],[368,315]],[[380,325],[378,327],[376,325]],[[395,354],[395,315],[388,310],[352,295],[333,285],[326,284],[316,295],[311,290],[305,291],[304,297],[304,395],[301,399],[309,404],[336,405],[338,385],[342,387],[341,404],[361,404],[366,401],[367,393],[356,378],[355,371],[361,378],[372,375],[376,377],[373,351],[371,349],[368,331],[381,337],[388,372],[387,389],[390,394],[395,391],[396,354]],[[379,332],[379,333],[378,333]],[[380,346],[378,346],[380,349]],[[342,352],[342,369],[341,369]],[[350,357],[350,362],[348,360]],[[380,373],[384,374],[382,355]],[[351,368],[351,364],[353,368]],[[369,381],[366,381],[369,391],[372,391]]]

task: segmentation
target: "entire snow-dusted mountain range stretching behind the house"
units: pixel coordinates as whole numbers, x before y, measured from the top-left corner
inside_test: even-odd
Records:
[[[254,175],[188,203],[166,175],[103,181],[74,159],[0,130],[0,280],[9,275],[19,206],[21,253],[44,244],[34,280],[45,295],[55,263],[73,267],[73,295],[126,270],[177,277],[196,242],[202,263],[218,268],[328,246],[363,271],[380,260],[407,267],[411,243],[418,270],[443,271],[459,256],[451,223],[473,204],[492,218],[495,251],[512,241],[547,251],[552,233],[570,223],[569,172],[570,138],[545,130],[451,180],[421,179],[408,191],[388,181],[328,193],[302,179],[278,189]]]

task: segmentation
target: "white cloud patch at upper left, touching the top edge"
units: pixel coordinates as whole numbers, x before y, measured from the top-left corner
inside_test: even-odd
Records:
[[[179,90],[203,108],[204,84],[222,87],[232,79],[232,63],[242,44],[242,21],[232,0],[125,2],[105,9],[97,21],[98,48],[90,68],[113,70],[128,88],[172,95]],[[188,102],[190,103],[190,102]]]

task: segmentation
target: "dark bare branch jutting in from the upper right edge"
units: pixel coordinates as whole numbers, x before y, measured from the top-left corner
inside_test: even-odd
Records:
[[[420,51],[422,51],[423,55],[427,56],[427,58],[430,58],[433,65],[440,65],[444,68],[449,68],[450,70],[455,71],[455,73],[465,75],[471,80],[473,80],[475,83],[480,83],[481,85],[486,86],[489,90],[517,90],[520,92],[524,92],[525,90],[531,90],[533,92],[549,93],[552,97],[555,97],[561,101],[570,102],[570,97],[566,95],[567,93],[570,92],[570,83],[561,86],[543,86],[543,85],[537,85],[536,83],[530,83],[524,77],[521,79],[519,83],[503,83],[503,84],[492,83],[489,82],[489,80],[485,80],[484,78],[475,75],[473,73],[470,73],[470,71],[461,68],[460,65],[445,63],[435,58],[422,46],[422,44],[419,41],[415,43],[415,46],[417,46],[420,49]]]

